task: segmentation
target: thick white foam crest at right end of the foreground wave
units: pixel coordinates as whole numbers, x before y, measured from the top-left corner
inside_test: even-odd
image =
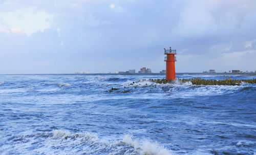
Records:
[[[134,149],[140,153],[145,155],[170,155],[171,153],[166,148],[159,146],[156,143],[151,143],[147,140],[143,142],[138,142],[137,140],[133,140],[130,135],[125,135],[122,143],[130,145],[134,147]]]

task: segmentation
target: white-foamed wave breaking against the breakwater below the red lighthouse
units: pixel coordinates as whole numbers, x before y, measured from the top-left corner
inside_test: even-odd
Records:
[[[118,92],[123,90],[131,93],[172,93],[172,97],[193,97],[193,96],[212,96],[221,95],[225,93],[234,93],[243,89],[247,90],[248,85],[193,85],[190,81],[182,82],[175,80],[173,83],[155,83],[149,80],[123,82],[121,86],[117,87]],[[251,87],[254,89],[253,87]],[[251,89],[249,88],[249,89]],[[180,95],[182,94],[182,96]]]

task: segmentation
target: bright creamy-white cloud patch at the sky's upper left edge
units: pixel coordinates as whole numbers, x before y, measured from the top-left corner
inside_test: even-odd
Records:
[[[52,25],[53,15],[35,8],[18,9],[12,12],[0,12],[1,29],[10,29],[13,33],[24,32],[31,36],[44,31]]]

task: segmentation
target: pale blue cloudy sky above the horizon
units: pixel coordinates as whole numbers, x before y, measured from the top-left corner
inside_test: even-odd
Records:
[[[0,0],[0,74],[256,71],[255,0]]]

